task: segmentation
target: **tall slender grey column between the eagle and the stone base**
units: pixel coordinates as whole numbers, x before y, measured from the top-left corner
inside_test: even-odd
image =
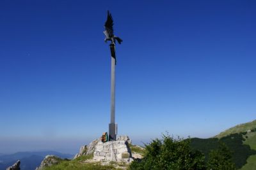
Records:
[[[111,43],[111,118],[109,124],[109,139],[116,140],[117,124],[115,122],[115,44]]]

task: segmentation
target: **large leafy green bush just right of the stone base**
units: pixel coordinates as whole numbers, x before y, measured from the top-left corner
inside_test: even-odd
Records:
[[[205,169],[204,155],[191,150],[190,139],[163,135],[145,145],[145,157],[132,162],[130,169]]]

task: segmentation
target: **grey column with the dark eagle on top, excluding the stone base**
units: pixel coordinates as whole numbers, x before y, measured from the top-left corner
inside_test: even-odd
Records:
[[[115,42],[118,41],[119,44],[122,43],[122,39],[114,35],[113,30],[113,18],[111,13],[108,11],[108,18],[105,22],[104,34],[106,38],[105,42],[111,41],[110,52],[111,52],[111,118],[109,124],[109,140],[116,140],[117,134],[117,124],[115,122],[115,66],[116,66],[116,53],[115,53]]]

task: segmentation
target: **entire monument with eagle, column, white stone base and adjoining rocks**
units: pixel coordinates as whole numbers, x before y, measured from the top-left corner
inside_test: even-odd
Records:
[[[102,138],[95,139],[88,146],[81,147],[79,153],[76,154],[74,159],[82,155],[90,155],[93,153],[93,160],[104,162],[124,162],[125,164],[131,163],[132,153],[129,145],[131,139],[128,136],[116,136],[117,124],[115,122],[115,66],[116,66],[116,53],[115,43],[118,41],[122,43],[122,39],[114,35],[113,31],[113,18],[108,11],[108,18],[105,22],[105,31],[103,31],[106,38],[105,42],[110,41],[111,52],[111,117],[109,124],[109,138],[104,133]]]

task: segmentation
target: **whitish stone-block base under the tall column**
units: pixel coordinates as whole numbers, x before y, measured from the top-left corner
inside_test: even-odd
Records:
[[[108,141],[97,143],[93,152],[93,159],[130,162],[132,161],[132,155],[127,141]]]

